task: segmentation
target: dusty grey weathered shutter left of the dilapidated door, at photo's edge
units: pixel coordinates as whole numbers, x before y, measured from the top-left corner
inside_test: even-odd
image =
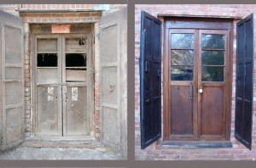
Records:
[[[22,20],[0,11],[0,149],[23,141],[24,72]]]

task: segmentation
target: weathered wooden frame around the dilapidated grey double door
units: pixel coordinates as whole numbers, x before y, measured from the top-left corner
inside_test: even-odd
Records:
[[[64,23],[63,23],[64,24]],[[30,50],[30,73],[31,73],[31,132],[30,132],[30,136],[37,136],[37,132],[36,132],[36,122],[37,122],[37,115],[36,115],[36,111],[37,111],[37,106],[36,106],[36,98],[37,98],[37,89],[36,89],[36,82],[37,82],[37,71],[35,70],[37,68],[37,63],[36,63],[36,39],[38,36],[45,36],[45,35],[54,35],[55,34],[52,34],[49,29],[46,29],[47,31],[44,31],[44,29],[42,30],[36,30],[36,29],[32,29],[32,26],[35,25],[35,26],[50,26],[50,25],[53,25],[53,24],[29,24],[30,26],[30,45],[29,45],[29,50]],[[89,43],[88,44],[88,53],[87,55],[90,55],[90,57],[87,57],[87,87],[88,87],[88,102],[90,102],[90,104],[88,104],[88,124],[87,126],[89,126],[87,128],[88,130],[88,136],[94,136],[94,135],[90,135],[91,133],[90,132],[94,132],[94,93],[95,93],[95,88],[94,88],[94,85],[95,85],[95,79],[94,79],[94,70],[95,70],[95,54],[94,54],[94,48],[95,48],[95,45],[94,45],[94,26],[91,25],[91,24],[70,24],[70,25],[79,25],[82,27],[81,30],[79,29],[76,29],[74,31],[71,30],[70,33],[67,33],[67,35],[65,36],[76,36],[78,34],[80,35],[84,35],[84,36],[87,36],[88,39],[87,39],[87,42]],[[84,31],[85,30],[85,31]],[[60,34],[56,34],[57,36],[61,36],[61,33]],[[59,49],[58,49],[59,50]],[[62,53],[62,51],[61,51]],[[58,57],[58,60],[60,60],[62,58],[59,58]],[[59,67],[59,66],[58,66]],[[63,65],[61,65],[61,70],[63,69]],[[58,73],[58,75],[61,75],[60,73]],[[62,76],[61,76],[62,77]],[[62,77],[63,78],[63,77]],[[62,91],[61,91],[62,92]],[[61,96],[62,97],[62,96]],[[63,104],[64,105],[64,104]],[[61,104],[61,109],[63,110],[63,106]],[[62,114],[64,114],[64,112],[62,112]],[[62,124],[61,124],[62,126]],[[62,126],[63,127],[63,126]],[[61,130],[63,130],[63,128],[61,128]],[[62,132],[61,132],[61,135],[62,135]],[[40,136],[41,137],[41,136]],[[43,136],[42,136],[43,137]],[[68,136],[70,137],[70,136]]]

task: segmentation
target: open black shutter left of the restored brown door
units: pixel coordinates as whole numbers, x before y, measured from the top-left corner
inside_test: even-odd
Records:
[[[140,57],[141,148],[161,136],[161,22],[142,11]]]

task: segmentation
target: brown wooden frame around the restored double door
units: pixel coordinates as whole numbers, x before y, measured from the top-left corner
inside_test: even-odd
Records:
[[[230,123],[231,123],[231,98],[232,98],[232,58],[233,58],[233,20],[231,19],[216,19],[216,18],[183,18],[183,17],[165,17],[164,24],[164,48],[163,48],[163,141],[168,142],[170,140],[170,38],[169,29],[207,29],[207,30],[227,30],[229,41],[227,52],[229,57],[227,58],[227,84],[224,86],[225,94],[224,104],[226,105],[226,125],[225,125],[225,141],[230,141]],[[188,24],[188,22],[190,22]],[[207,22],[207,24],[205,23]],[[196,53],[195,53],[196,54]],[[197,63],[196,63],[197,64]],[[195,88],[197,90],[198,88]],[[168,91],[168,92],[165,92]],[[194,123],[195,124],[195,123]],[[198,136],[198,135],[196,135]]]

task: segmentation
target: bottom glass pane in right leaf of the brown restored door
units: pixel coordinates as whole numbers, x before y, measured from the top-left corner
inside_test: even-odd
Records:
[[[202,67],[201,81],[224,81],[224,67]]]

